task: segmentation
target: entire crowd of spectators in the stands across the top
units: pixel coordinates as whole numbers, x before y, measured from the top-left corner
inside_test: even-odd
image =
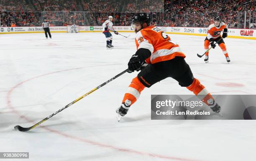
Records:
[[[0,0],[0,26],[40,26],[43,18],[55,26],[102,25],[109,15],[128,26],[136,12],[150,12],[154,25],[207,27],[219,15],[229,28],[243,28],[244,11],[256,23],[255,7],[255,0]]]

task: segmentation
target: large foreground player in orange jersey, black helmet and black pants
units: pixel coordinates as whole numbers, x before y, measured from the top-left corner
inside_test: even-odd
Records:
[[[128,87],[121,106],[116,110],[118,116],[125,116],[145,87],[149,88],[167,77],[174,78],[180,86],[195,93],[212,111],[219,113],[220,106],[200,81],[194,78],[179,45],[161,29],[150,25],[150,17],[146,13],[136,14],[132,21],[137,51],[129,60],[128,73],[135,70],[141,72],[133,78]]]

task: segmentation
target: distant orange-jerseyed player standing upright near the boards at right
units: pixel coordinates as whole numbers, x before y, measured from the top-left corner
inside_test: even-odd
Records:
[[[222,37],[220,36],[221,31],[223,31]],[[205,51],[209,49],[209,45],[211,45],[212,48],[215,48],[216,45],[214,44],[214,42],[218,42],[218,45],[223,51],[223,54],[225,55],[227,62],[230,62],[228,51],[223,40],[223,38],[226,38],[227,36],[228,36],[227,25],[223,22],[220,23],[219,16],[215,17],[214,23],[209,26],[207,37],[205,38]],[[208,62],[209,62],[209,52],[205,54],[205,63],[208,63]]]

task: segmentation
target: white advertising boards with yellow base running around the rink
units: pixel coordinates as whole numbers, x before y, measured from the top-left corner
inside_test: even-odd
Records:
[[[168,34],[178,35],[195,35],[206,36],[208,28],[190,28],[190,27],[162,27],[161,30]],[[115,26],[118,32],[133,32],[130,26]],[[50,27],[52,33],[67,33],[67,26]],[[102,32],[102,26],[79,26],[80,33]],[[42,27],[2,27],[0,34],[15,34],[15,33],[44,33]],[[228,29],[228,38],[243,38],[256,40],[256,30],[253,29]]]

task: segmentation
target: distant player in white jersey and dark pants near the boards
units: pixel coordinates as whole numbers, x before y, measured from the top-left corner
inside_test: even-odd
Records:
[[[102,24],[102,33],[104,33],[104,35],[106,36],[107,39],[107,49],[112,49],[114,46],[112,45],[112,39],[113,36],[109,31],[113,31],[116,35],[118,35],[118,32],[114,30],[113,28],[113,23],[112,23],[113,17],[112,16],[108,16],[108,20],[106,20],[103,24]]]

